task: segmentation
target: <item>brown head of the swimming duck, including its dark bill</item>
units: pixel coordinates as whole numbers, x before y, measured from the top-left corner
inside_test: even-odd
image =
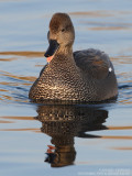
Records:
[[[75,40],[75,30],[72,20],[66,13],[55,13],[50,22],[47,33],[50,46],[44,56],[50,62],[56,53],[68,53]]]

